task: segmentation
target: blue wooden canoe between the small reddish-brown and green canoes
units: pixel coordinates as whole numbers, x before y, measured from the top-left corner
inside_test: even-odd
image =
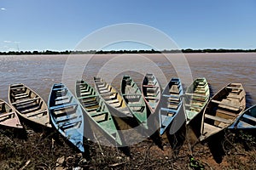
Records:
[[[183,87],[179,78],[172,78],[162,93],[160,135],[165,133],[178,114],[183,114]]]

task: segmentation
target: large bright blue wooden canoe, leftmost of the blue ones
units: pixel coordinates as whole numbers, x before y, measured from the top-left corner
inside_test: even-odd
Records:
[[[79,101],[62,83],[54,84],[48,100],[49,115],[55,128],[84,152],[84,116]]]

